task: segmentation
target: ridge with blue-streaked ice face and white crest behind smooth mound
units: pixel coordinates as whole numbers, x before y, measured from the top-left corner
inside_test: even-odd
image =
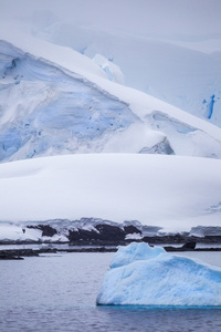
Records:
[[[84,73],[84,55],[41,41],[24,51],[0,41],[0,160],[85,152],[221,157],[220,128],[104,79],[98,65],[95,74],[88,59]]]

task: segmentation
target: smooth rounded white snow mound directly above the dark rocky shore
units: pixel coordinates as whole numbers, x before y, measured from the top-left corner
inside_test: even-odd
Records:
[[[221,226],[220,169],[218,159],[147,154],[75,154],[4,163],[0,219],[139,220],[166,231]]]

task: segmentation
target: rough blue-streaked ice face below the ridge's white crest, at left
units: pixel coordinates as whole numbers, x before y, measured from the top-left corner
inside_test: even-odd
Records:
[[[82,77],[1,42],[0,160],[99,152],[136,116]]]

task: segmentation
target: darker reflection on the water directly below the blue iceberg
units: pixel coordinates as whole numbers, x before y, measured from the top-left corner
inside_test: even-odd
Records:
[[[221,326],[221,310],[199,309],[101,309],[106,321],[122,331],[209,331]],[[207,328],[204,326],[207,325]],[[114,331],[114,330],[113,330]],[[214,330],[213,330],[214,331]],[[219,330],[217,330],[219,331]]]

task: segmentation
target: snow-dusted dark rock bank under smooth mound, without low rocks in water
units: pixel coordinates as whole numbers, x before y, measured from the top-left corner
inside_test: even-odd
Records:
[[[196,243],[221,243],[220,227],[198,227],[189,232],[164,234],[156,226],[143,226],[137,220],[117,224],[110,220],[82,218],[80,220],[54,219],[46,221],[6,224],[8,236],[0,245],[17,243],[70,243],[73,246],[120,246],[144,241],[149,245],[185,245],[185,250],[194,249]],[[10,227],[12,236],[10,239]],[[14,231],[15,228],[15,231]],[[35,230],[35,231],[33,231]],[[215,231],[217,230],[217,231]],[[1,232],[0,232],[1,235]]]

